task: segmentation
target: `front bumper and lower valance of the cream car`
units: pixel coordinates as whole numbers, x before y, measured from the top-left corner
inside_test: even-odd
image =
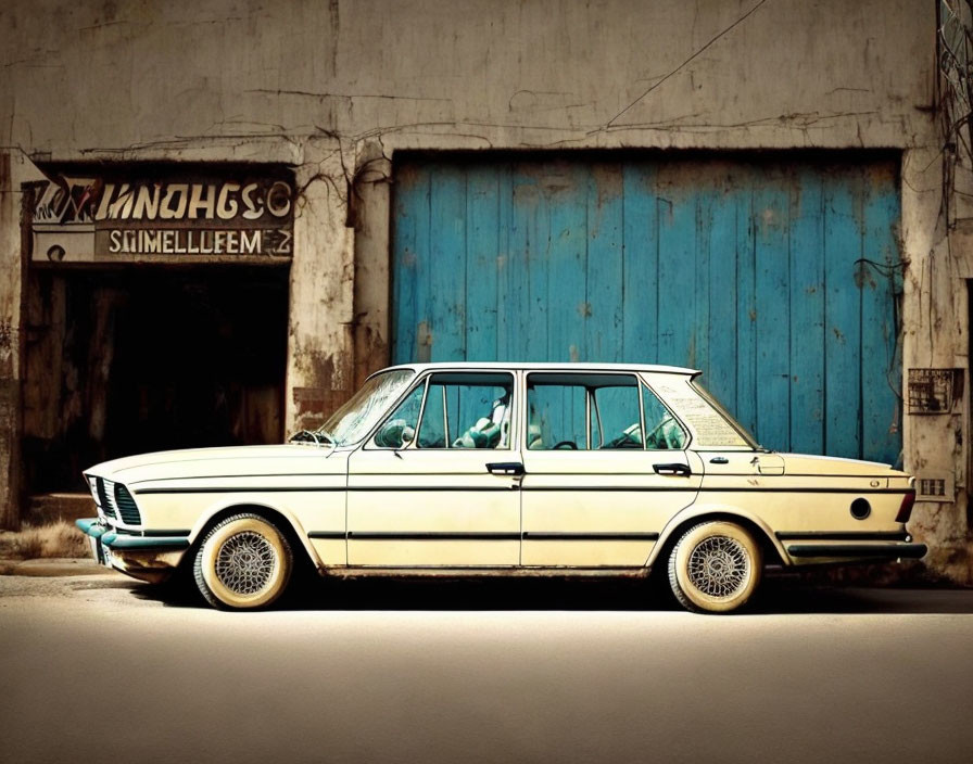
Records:
[[[105,525],[99,518],[75,521],[91,539],[94,561],[153,584],[168,578],[189,549],[189,534],[146,536]]]

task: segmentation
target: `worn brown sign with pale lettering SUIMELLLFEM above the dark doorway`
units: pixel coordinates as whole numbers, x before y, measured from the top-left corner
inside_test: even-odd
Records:
[[[34,183],[34,262],[212,262],[293,254],[294,187],[269,177],[48,174]]]

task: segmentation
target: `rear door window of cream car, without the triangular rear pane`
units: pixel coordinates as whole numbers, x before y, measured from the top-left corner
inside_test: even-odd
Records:
[[[528,448],[643,448],[639,383],[630,374],[530,374],[527,405]]]

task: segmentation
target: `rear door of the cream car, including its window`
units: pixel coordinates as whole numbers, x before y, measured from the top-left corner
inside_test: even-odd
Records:
[[[644,565],[703,480],[686,434],[631,373],[527,377],[523,565]]]

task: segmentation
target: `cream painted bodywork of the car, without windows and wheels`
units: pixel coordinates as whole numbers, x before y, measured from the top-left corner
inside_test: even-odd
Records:
[[[904,505],[911,506],[914,498],[913,480],[888,466],[774,454],[749,445],[704,445],[672,408],[690,438],[684,449],[533,451],[525,443],[526,378],[539,367],[407,368],[416,371],[415,384],[444,369],[509,371],[516,394],[507,447],[470,449],[462,456],[455,456],[459,449],[451,450],[450,458],[463,460],[462,467],[444,474],[431,474],[432,464],[443,463],[431,451],[376,448],[375,430],[349,447],[289,444],[128,457],[96,466],[86,476],[97,504],[105,504],[106,491],[124,486],[139,522],[127,523],[122,513],[111,508],[106,513],[102,507],[97,519],[79,525],[92,537],[96,555],[153,582],[191,557],[208,529],[241,510],[278,525],[294,550],[326,573],[646,574],[664,562],[661,556],[686,529],[713,519],[750,529],[764,549],[763,559],[783,565],[920,557],[925,551],[912,543],[904,522]],[[573,373],[579,366],[543,369]],[[660,380],[688,382],[698,373],[621,365],[584,369],[635,374],[650,390],[665,387]],[[408,461],[420,459],[426,461],[409,472]],[[483,471],[485,462],[507,461],[522,463],[526,474],[488,476]],[[668,461],[684,462],[687,474],[656,474],[653,467]],[[622,462],[623,469],[615,467]],[[356,471],[356,463],[366,467]],[[416,484],[414,473],[426,475],[420,478],[426,483]],[[473,493],[465,493],[467,488]],[[477,492],[486,492],[485,498],[478,499],[480,505],[471,501],[473,509],[464,512],[457,497],[477,497]],[[119,496],[108,504],[117,504],[124,498]],[[490,509],[496,501],[506,504],[493,517]],[[350,517],[358,525],[352,527]],[[417,517],[439,525],[416,525]]]

